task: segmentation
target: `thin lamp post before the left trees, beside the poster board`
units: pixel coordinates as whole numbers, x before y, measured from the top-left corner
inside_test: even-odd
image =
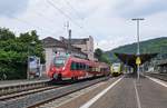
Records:
[[[31,46],[35,46],[36,45],[36,41],[31,41],[29,45],[28,45],[28,60],[27,60],[27,79],[30,79],[30,69],[29,69],[29,58],[30,58],[30,47]]]

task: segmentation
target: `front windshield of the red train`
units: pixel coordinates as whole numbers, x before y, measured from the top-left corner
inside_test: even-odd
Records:
[[[53,65],[55,65],[56,67],[63,67],[66,60],[67,60],[67,57],[55,57],[55,59],[53,59]]]

